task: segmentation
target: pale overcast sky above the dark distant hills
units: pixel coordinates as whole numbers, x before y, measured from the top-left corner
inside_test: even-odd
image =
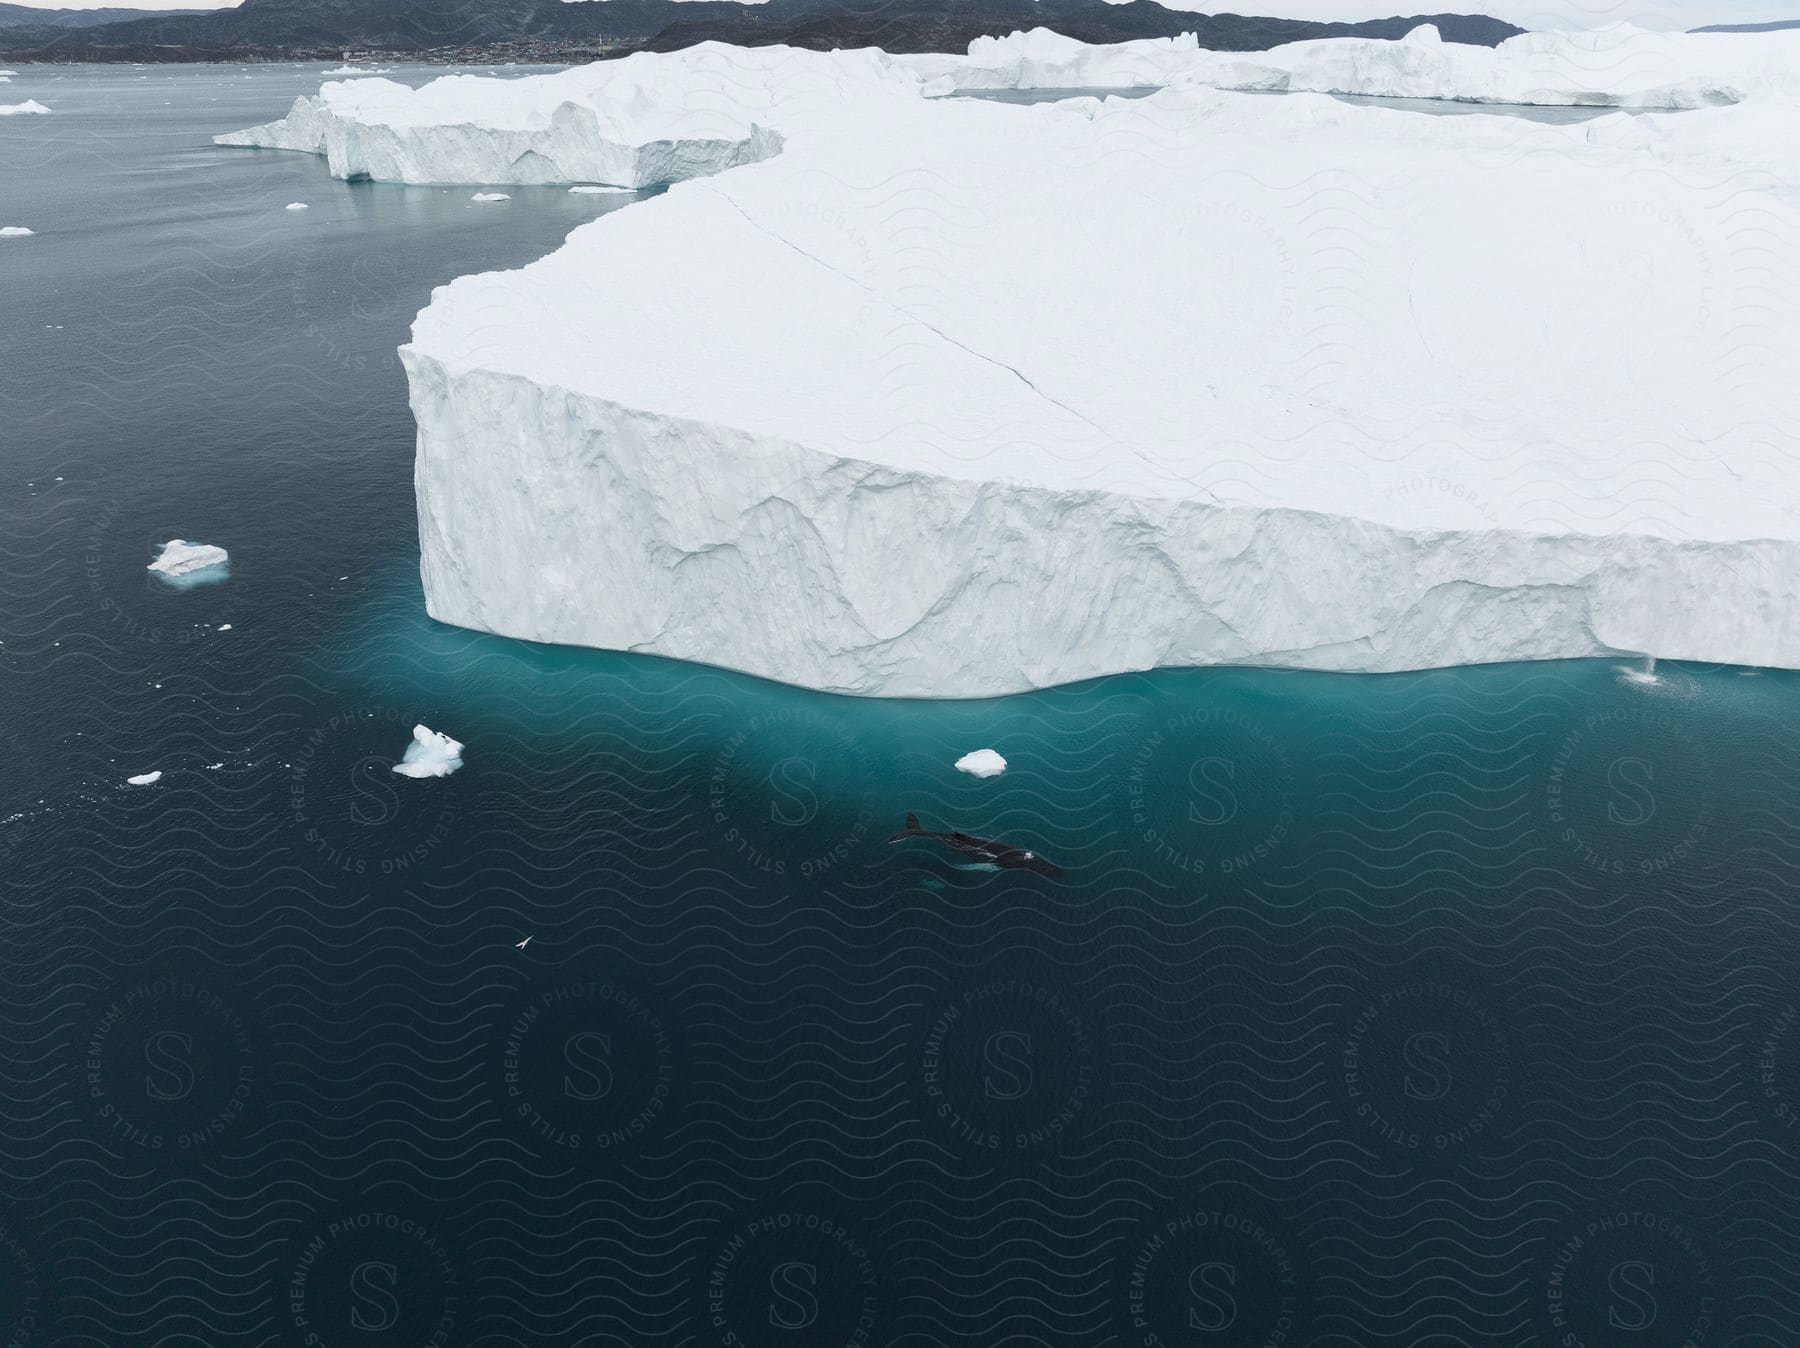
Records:
[[[40,9],[99,9],[110,0],[11,0]],[[221,0],[112,0],[137,9],[229,9]],[[1217,0],[1161,0],[1170,9],[1201,13],[1231,11],[1238,14],[1282,14],[1292,18],[1386,18],[1393,13],[1492,14],[1525,29],[1591,29],[1598,23],[1631,20],[1647,29],[1694,29],[1701,23],[1762,23],[1778,18],[1800,18],[1800,0],[1420,0],[1395,9],[1391,0],[1237,0],[1220,5]]]

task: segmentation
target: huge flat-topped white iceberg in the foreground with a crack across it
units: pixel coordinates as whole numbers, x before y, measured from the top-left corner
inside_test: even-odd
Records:
[[[1676,153],[1768,115],[774,108],[419,315],[430,612],[871,695],[1796,666],[1800,196]]]

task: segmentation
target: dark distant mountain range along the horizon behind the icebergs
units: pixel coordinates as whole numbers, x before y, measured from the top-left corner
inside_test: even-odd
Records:
[[[18,5],[0,5],[14,13]],[[25,11],[32,13],[32,11]],[[45,11],[36,11],[45,13]],[[67,14],[70,11],[50,11]],[[90,11],[95,13],[95,11]],[[108,11],[97,11],[108,13]],[[1399,38],[1436,23],[1449,41],[1492,47],[1521,29],[1471,14],[1314,23],[1195,14],[1154,0],[243,0],[236,9],[74,27],[0,27],[5,61],[338,59],[585,61],[697,41],[959,52],[972,38],[1046,27],[1082,41],[1195,32],[1215,50],[1327,36]]]

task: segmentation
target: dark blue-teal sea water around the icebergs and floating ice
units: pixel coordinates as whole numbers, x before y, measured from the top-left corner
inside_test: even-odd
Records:
[[[317,70],[0,85],[0,1348],[1800,1343],[1795,677],[437,626],[392,349],[630,198],[207,144]]]

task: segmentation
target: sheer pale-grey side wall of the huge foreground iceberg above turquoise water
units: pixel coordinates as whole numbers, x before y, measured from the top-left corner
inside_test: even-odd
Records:
[[[1800,661],[1791,540],[1424,533],[976,482],[407,365],[427,603],[484,632],[886,696],[1183,664]],[[571,439],[592,457],[533,461]]]

